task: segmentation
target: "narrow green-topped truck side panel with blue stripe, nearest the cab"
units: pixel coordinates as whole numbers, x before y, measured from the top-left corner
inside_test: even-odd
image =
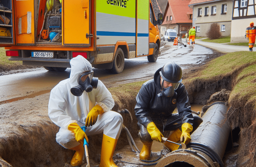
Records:
[[[137,1],[137,56],[149,54],[149,0]]]

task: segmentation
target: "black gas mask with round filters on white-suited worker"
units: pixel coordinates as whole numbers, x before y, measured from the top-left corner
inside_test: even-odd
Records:
[[[73,86],[70,92],[74,96],[81,96],[83,92],[91,92],[98,85],[98,78],[93,77],[94,71],[85,71],[79,74],[77,82],[79,85]]]

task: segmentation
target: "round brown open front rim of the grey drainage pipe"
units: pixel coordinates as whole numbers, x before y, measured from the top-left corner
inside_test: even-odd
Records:
[[[165,155],[156,167],[216,167],[208,156],[201,152],[191,150],[176,150]]]

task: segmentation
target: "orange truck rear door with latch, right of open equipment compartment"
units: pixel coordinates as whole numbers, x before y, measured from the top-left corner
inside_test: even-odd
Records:
[[[62,3],[64,45],[90,46],[90,0],[64,0]]]

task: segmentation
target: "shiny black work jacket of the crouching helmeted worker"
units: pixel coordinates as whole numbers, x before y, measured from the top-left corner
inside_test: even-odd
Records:
[[[160,74],[155,79],[145,82],[136,97],[134,110],[140,124],[147,128],[148,124],[153,122],[152,118],[162,119],[170,116],[177,107],[182,123],[193,125],[194,118],[187,91],[182,83],[175,90],[173,97],[158,97],[159,93],[161,93]]]

